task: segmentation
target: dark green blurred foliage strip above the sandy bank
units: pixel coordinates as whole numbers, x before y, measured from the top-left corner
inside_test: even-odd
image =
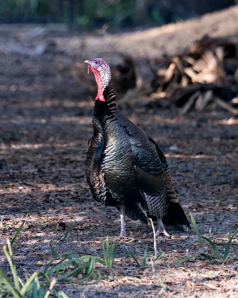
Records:
[[[160,26],[227,8],[237,0],[2,0],[1,23],[65,23],[70,29]]]

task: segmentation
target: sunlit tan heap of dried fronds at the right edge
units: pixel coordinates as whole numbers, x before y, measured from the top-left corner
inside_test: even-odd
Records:
[[[174,103],[183,113],[219,106],[238,115],[238,51],[233,42],[204,36],[189,53],[151,63],[157,67],[152,101]]]

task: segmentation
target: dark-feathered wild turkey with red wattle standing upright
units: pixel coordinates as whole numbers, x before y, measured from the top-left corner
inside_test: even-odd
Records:
[[[190,225],[159,146],[120,112],[110,85],[109,65],[102,58],[84,63],[88,74],[91,67],[98,87],[93,136],[86,150],[92,197],[120,210],[121,236],[126,235],[125,214],[146,224],[147,217],[157,221],[157,235],[161,231],[168,235],[163,223],[178,224],[187,231]]]

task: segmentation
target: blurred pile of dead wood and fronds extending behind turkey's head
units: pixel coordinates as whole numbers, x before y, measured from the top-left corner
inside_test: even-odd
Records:
[[[238,115],[238,49],[225,38],[206,35],[187,53],[158,60],[134,60],[118,52],[101,56],[111,67],[121,108],[176,105],[186,113],[220,107]],[[82,61],[74,64],[73,76],[93,98],[97,86]]]

